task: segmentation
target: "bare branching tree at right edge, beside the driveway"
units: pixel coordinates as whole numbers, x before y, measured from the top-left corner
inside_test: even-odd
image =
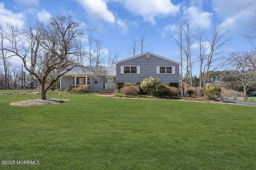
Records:
[[[226,77],[232,77],[234,84],[243,88],[244,101],[247,101],[248,90],[256,90],[256,55],[255,53],[231,53],[227,60],[230,72]],[[231,68],[231,69],[230,69]],[[253,88],[253,89],[250,89]]]

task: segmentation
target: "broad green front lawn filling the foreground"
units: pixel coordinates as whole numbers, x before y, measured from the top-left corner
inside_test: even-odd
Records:
[[[0,95],[0,169],[256,169],[255,107],[47,94]]]

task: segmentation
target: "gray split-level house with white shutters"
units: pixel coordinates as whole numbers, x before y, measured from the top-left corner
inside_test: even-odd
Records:
[[[89,86],[91,91],[115,89],[122,86],[140,87],[144,78],[158,77],[161,84],[179,83],[179,66],[181,64],[147,52],[114,63],[114,66],[90,67],[89,70],[72,68],[60,78],[60,89],[68,85]],[[89,68],[89,67],[88,67]]]

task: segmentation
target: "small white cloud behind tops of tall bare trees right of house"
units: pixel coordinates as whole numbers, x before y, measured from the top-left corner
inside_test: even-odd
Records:
[[[192,24],[196,27],[209,28],[212,21],[212,13],[200,12],[201,10],[195,6],[184,8],[184,15],[191,16]]]

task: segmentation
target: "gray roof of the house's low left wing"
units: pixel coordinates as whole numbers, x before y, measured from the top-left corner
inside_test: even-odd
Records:
[[[116,68],[108,66],[98,66],[98,67],[74,67],[68,71],[64,76],[74,76],[74,75],[98,75],[98,76],[116,76]]]

